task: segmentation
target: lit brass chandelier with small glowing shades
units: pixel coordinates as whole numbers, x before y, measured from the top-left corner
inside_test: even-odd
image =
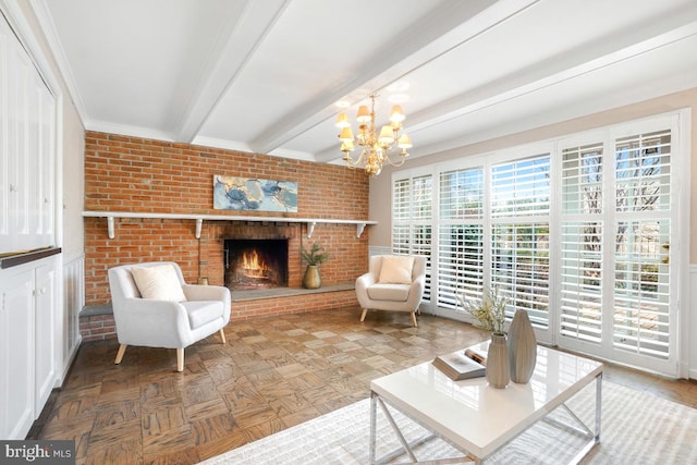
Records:
[[[377,94],[370,95],[370,110],[368,110],[367,106],[360,106],[358,108],[358,114],[356,117],[358,121],[358,135],[355,139],[346,113],[339,113],[339,119],[337,120],[337,127],[341,130],[339,139],[341,140],[341,151],[344,152],[343,160],[351,169],[364,168],[370,178],[380,174],[380,171],[382,171],[382,162],[386,160],[393,167],[404,164],[408,156],[406,149],[412,148],[412,139],[409,136],[404,133],[400,135],[402,121],[404,121],[406,117],[402,111],[402,107],[399,105],[392,107],[390,124],[382,126],[378,135],[375,125],[375,99],[377,97]],[[354,144],[356,142],[360,147],[360,155],[354,160],[350,152],[354,150]],[[395,162],[390,159],[389,151],[398,147],[401,148],[402,151],[399,154],[400,160]]]

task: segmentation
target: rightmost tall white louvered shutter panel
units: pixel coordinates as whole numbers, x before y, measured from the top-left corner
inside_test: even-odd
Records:
[[[615,142],[615,348],[669,357],[671,131]]]

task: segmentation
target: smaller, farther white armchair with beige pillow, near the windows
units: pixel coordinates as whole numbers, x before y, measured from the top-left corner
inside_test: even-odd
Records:
[[[356,280],[356,297],[363,308],[360,321],[367,311],[392,310],[412,315],[416,323],[424,289],[426,287],[426,257],[405,255],[374,255],[368,272]]]

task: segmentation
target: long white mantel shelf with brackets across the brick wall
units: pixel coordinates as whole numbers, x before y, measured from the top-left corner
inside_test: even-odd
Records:
[[[307,238],[313,237],[315,232],[315,225],[317,223],[325,224],[355,224],[356,237],[360,237],[366,225],[377,224],[377,221],[367,220],[334,220],[334,219],[321,219],[321,218],[286,218],[286,217],[246,217],[246,216],[233,216],[233,215],[186,215],[186,213],[138,213],[133,211],[83,211],[83,217],[89,218],[106,218],[107,228],[109,230],[109,238],[115,237],[114,218],[154,218],[160,220],[195,220],[196,221],[196,238],[200,238],[200,230],[205,221],[277,221],[283,223],[306,223],[307,224]]]

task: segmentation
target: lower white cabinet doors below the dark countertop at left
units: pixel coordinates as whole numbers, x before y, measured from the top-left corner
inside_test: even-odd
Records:
[[[0,439],[24,439],[56,386],[56,259],[0,270]]]

